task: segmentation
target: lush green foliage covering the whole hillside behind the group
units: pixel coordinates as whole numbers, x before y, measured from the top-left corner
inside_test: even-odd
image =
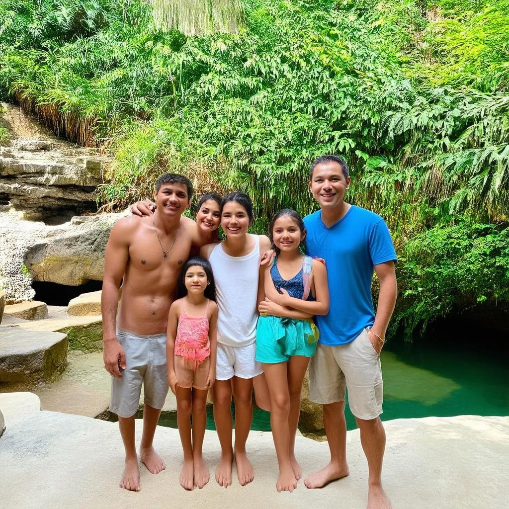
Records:
[[[186,37],[159,31],[145,0],[6,0],[0,97],[112,153],[96,193],[104,210],[151,196],[163,170],[179,171],[198,193],[249,192],[261,233],[280,208],[315,210],[309,165],[342,154],[348,199],[381,213],[403,254],[400,286],[410,293],[397,320],[411,330],[467,305],[460,290],[442,300],[451,272],[419,257],[461,231],[466,264],[468,246],[506,236],[509,1],[242,3],[238,35]],[[480,235],[485,227],[498,233]],[[487,281],[504,281],[486,267]],[[415,286],[417,270],[426,277]]]

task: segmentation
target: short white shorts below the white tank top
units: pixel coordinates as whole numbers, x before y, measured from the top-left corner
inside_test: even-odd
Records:
[[[254,378],[263,373],[261,362],[254,360],[256,343],[247,347],[230,347],[217,344],[216,380]]]

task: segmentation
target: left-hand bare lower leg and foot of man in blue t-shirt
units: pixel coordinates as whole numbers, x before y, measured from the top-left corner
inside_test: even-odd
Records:
[[[330,463],[304,479],[308,488],[322,488],[332,480],[346,477],[350,472],[347,465],[347,423],[345,402],[338,401],[323,406],[325,434],[329,442]]]

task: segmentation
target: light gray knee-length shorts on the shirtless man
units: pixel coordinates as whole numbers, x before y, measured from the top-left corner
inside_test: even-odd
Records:
[[[168,393],[166,370],[166,334],[140,335],[117,331],[117,339],[126,352],[122,378],[111,377],[110,412],[131,417],[138,410],[139,395],[144,403],[162,408]]]

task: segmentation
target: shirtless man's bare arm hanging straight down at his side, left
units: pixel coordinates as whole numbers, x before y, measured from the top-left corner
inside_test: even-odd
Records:
[[[103,360],[108,373],[122,378],[120,367],[125,369],[125,351],[117,340],[116,319],[119,305],[119,288],[129,259],[129,244],[135,223],[130,218],[120,219],[111,229],[104,260],[101,293],[103,323]]]

